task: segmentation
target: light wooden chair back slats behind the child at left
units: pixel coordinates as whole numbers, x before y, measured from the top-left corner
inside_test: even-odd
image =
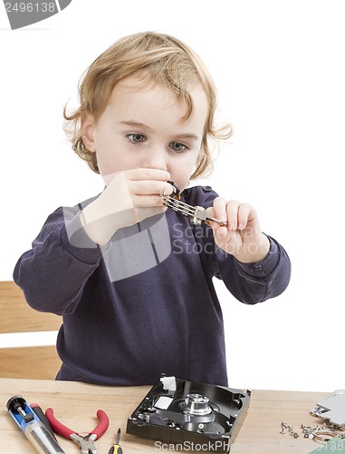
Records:
[[[13,281],[0,281],[0,333],[57,331],[62,317],[34,311]],[[0,347],[0,377],[54,380],[61,360],[54,345]]]

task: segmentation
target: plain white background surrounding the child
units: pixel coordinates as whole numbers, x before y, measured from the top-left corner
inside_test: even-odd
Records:
[[[0,280],[50,212],[101,191],[62,132],[83,71],[123,35],[176,35],[205,61],[235,130],[206,183],[252,202],[292,260],[288,289],[254,307],[216,282],[229,384],[345,388],[344,24],[342,0],[72,0],[16,31],[2,9]]]

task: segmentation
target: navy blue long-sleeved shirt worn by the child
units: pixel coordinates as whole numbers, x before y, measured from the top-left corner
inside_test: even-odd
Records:
[[[208,207],[209,186],[182,193]],[[168,209],[115,233],[99,247],[81,227],[81,209],[61,207],[14,268],[37,311],[62,315],[58,380],[148,385],[161,373],[227,385],[223,316],[213,279],[239,301],[281,294],[291,264],[272,237],[263,262],[244,264],[216,247],[212,230]]]

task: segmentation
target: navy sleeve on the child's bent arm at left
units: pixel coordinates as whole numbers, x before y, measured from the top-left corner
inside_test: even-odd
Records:
[[[36,311],[72,312],[101,260],[100,247],[81,226],[81,207],[59,208],[14,267],[14,282]],[[71,279],[72,277],[72,279]]]

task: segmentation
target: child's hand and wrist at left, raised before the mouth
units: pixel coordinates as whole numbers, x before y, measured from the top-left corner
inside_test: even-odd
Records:
[[[165,212],[160,195],[173,189],[170,175],[160,169],[132,169],[115,173],[94,202],[81,212],[81,224],[93,242],[103,246],[122,227]]]

